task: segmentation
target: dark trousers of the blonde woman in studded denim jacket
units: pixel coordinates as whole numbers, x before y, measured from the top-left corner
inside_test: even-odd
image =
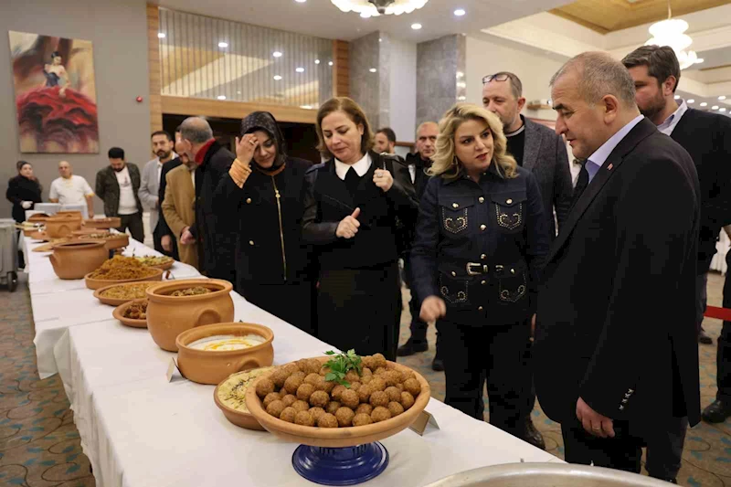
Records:
[[[447,316],[450,316],[448,310]],[[529,387],[523,360],[530,329],[524,322],[468,326],[440,320],[447,394],[444,402],[472,418],[483,418],[487,382],[490,424],[524,439]]]

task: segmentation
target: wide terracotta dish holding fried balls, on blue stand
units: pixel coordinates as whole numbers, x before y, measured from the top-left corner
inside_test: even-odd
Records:
[[[330,360],[330,357],[315,357],[323,365]],[[414,405],[408,408],[396,418],[390,418],[386,421],[373,423],[366,426],[353,426],[349,428],[315,428],[301,426],[294,423],[282,421],[280,418],[274,418],[266,410],[264,410],[261,399],[257,396],[256,385],[265,377],[269,377],[271,373],[263,374],[249,386],[246,392],[246,407],[249,412],[260,422],[261,426],[267,429],[271,434],[281,439],[309,445],[312,447],[325,448],[343,448],[354,447],[371,443],[379,439],[388,438],[407,429],[413,423],[421,411],[427,407],[429,403],[430,389],[429,382],[421,376],[416,370],[400,365],[395,362],[387,362],[387,368],[400,372],[413,372],[418,383],[421,385],[421,392],[415,397]],[[276,370],[276,369],[275,369]]]

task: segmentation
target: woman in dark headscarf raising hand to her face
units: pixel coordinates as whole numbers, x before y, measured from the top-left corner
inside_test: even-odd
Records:
[[[236,290],[247,301],[314,334],[313,279],[302,244],[302,188],[312,165],[289,157],[277,121],[255,111],[241,122],[237,158],[214,207],[238,228]]]

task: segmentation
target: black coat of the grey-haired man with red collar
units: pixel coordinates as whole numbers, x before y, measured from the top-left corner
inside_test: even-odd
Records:
[[[236,156],[217,142],[208,147],[203,163],[196,168],[196,224],[190,229],[198,243],[201,272],[231,283],[236,283],[236,228],[231,227],[230,219],[218,222],[213,196],[234,159]]]

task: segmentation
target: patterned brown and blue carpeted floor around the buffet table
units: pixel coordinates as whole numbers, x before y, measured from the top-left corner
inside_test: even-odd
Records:
[[[708,301],[719,305],[723,278],[711,275]],[[408,300],[408,291],[404,293]],[[401,342],[408,338],[408,306],[401,320]],[[714,338],[721,322],[706,320],[705,330]],[[429,327],[429,352],[400,359],[429,380],[434,397],[444,398],[444,374],[431,370],[435,331]],[[699,345],[701,401],[715,397],[715,345]],[[540,408],[535,426],[546,438],[547,449],[563,457],[558,425]],[[683,451],[681,485],[731,486],[731,419],[720,425],[700,424],[688,432]],[[33,346],[33,324],[25,277],[14,293],[0,288],[0,486],[89,487],[94,478],[89,460],[81,452],[79,432],[73,424],[58,376],[39,380]]]

